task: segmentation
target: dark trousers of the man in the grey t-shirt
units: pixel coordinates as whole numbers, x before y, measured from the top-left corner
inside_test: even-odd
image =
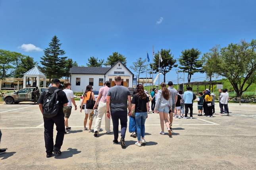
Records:
[[[112,122],[113,122],[113,132],[114,140],[118,139],[118,126],[119,119],[121,123],[121,138],[125,138],[126,128],[127,128],[127,111],[110,111]]]

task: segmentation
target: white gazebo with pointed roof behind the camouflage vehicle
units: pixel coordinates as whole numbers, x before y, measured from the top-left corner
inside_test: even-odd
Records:
[[[37,87],[40,87],[40,78],[43,79],[43,87],[46,87],[46,76],[40,72],[40,70],[37,67],[32,68],[31,70],[24,73],[23,77],[23,88],[26,88],[27,85],[27,77],[31,78],[32,85],[33,82],[37,82]]]

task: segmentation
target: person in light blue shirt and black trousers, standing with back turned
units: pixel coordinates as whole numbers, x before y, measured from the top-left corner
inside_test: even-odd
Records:
[[[187,91],[185,91],[184,95],[184,105],[185,105],[185,117],[187,119],[189,110],[190,110],[190,119],[193,119],[193,93],[191,91],[191,87],[187,87]]]

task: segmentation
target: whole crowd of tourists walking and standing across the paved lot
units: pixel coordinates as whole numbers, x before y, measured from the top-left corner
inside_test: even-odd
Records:
[[[183,94],[182,91],[177,91],[173,87],[171,81],[161,83],[160,89],[152,89],[150,94],[144,90],[142,84],[137,85],[134,91],[133,98],[131,99],[130,91],[127,87],[121,85],[121,77],[115,76],[115,86],[110,88],[110,82],[106,81],[104,87],[100,88],[98,98],[95,100],[93,87],[88,85],[83,100],[81,102],[80,112],[83,111],[83,104],[85,105],[85,119],[84,130],[94,132],[97,137],[100,131],[102,117],[105,115],[105,130],[109,134],[110,119],[113,123],[114,144],[118,144],[119,137],[119,120],[121,124],[121,147],[126,147],[125,133],[127,129],[127,116],[130,117],[129,131],[133,129],[135,132],[133,137],[137,137],[135,145],[141,146],[146,144],[145,140],[145,121],[148,118],[150,110],[149,102],[151,101],[152,113],[159,113],[161,131],[160,134],[164,135],[164,125],[167,128],[168,134],[171,137],[171,127],[173,122],[173,114],[175,118],[188,118],[190,110],[190,119],[193,118],[193,101],[198,102],[198,116],[202,113],[206,117],[212,117],[215,113],[214,100],[215,95],[206,89],[202,93],[196,95],[192,93],[192,88],[187,87],[187,91]],[[52,157],[53,153],[60,155],[61,146],[64,140],[64,134],[71,130],[68,125],[68,119],[71,115],[72,104],[77,110],[77,105],[74,100],[73,91],[70,90],[71,84],[64,83],[64,90],[59,89],[60,80],[52,79],[51,87],[42,92],[38,98],[38,104],[44,120],[44,141],[46,147],[46,157]],[[229,94],[227,89],[219,89],[219,107],[221,116],[227,113]],[[128,101],[128,102],[127,102]],[[223,109],[224,107],[224,109]],[[185,108],[185,111],[184,111]],[[185,113],[185,116],[184,116]],[[92,129],[92,121],[95,119],[94,129]],[[87,128],[87,119],[89,118],[89,129]],[[54,144],[53,141],[53,128],[56,125],[57,135]],[[0,131],[0,141],[2,133]],[[0,149],[0,153],[4,153],[5,149]]]

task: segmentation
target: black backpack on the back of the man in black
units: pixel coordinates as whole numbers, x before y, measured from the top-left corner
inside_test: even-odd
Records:
[[[44,94],[44,102],[43,102],[43,116],[46,118],[52,118],[57,115],[57,98],[58,91],[60,89],[56,89],[55,91],[49,91],[48,89]]]

